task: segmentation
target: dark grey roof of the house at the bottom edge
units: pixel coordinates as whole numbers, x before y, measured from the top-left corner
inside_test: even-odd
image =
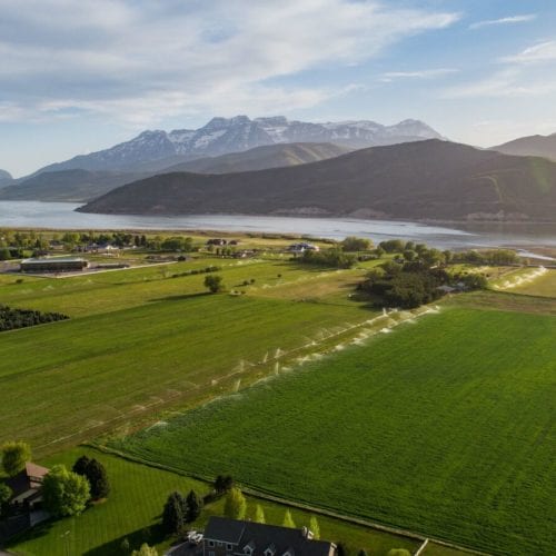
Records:
[[[332,548],[331,543],[308,539],[302,529],[215,516],[209,518],[205,538],[238,545],[237,552],[249,545],[254,548],[252,556],[264,556],[269,547],[276,550],[276,556],[288,550],[304,556],[329,556]]]

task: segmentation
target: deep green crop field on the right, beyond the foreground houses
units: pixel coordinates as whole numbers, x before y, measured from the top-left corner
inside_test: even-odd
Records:
[[[446,308],[111,445],[493,554],[548,555],[555,337],[549,316]]]

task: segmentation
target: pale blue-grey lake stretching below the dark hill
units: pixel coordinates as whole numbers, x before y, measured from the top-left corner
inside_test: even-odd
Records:
[[[49,229],[215,230],[299,234],[342,239],[359,236],[375,242],[403,238],[438,248],[513,246],[556,247],[555,226],[475,225],[466,229],[425,224],[360,220],[356,218],[299,218],[240,215],[132,216],[75,212],[71,202],[0,201],[0,227]]]

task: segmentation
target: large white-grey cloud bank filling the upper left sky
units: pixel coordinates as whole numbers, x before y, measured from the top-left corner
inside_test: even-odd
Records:
[[[292,76],[361,63],[458,18],[375,0],[2,0],[0,118],[85,110],[139,126],[310,107],[341,90]]]

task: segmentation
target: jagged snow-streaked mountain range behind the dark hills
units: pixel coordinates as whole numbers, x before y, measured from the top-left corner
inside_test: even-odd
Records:
[[[143,131],[130,141],[46,166],[36,173],[76,168],[89,171],[156,172],[189,160],[266,145],[331,142],[358,149],[434,138],[440,138],[440,135],[418,120],[383,126],[366,120],[310,123],[290,121],[282,116],[254,120],[247,116],[236,116],[228,119],[212,118],[199,129]]]

